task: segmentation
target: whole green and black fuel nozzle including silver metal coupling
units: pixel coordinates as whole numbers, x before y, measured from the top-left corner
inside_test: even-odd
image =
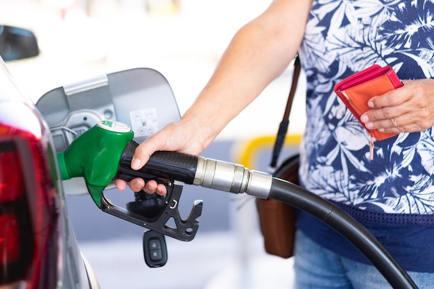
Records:
[[[183,184],[231,193],[248,193],[267,198],[272,176],[250,171],[243,166],[205,159],[180,152],[155,152],[140,170],[130,164],[139,143],[128,125],[116,121],[101,121],[75,139],[69,148],[58,154],[62,179],[84,177],[87,190],[96,205],[114,216],[179,240],[192,240],[198,229],[197,218],[202,213],[202,201],[196,200],[186,220],[177,210]],[[130,181],[141,177],[155,179],[167,188],[164,197],[135,193],[134,202],[118,207],[105,198],[104,189],[114,179]],[[175,221],[175,227],[168,220]]]

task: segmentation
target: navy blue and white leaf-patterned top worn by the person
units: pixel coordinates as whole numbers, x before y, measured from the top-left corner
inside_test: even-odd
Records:
[[[370,160],[370,135],[333,93],[340,80],[372,64],[392,66],[401,79],[434,78],[434,0],[315,0],[300,60],[308,117],[300,181],[383,238],[408,270],[434,272],[433,128],[375,141]],[[321,226],[301,213],[299,227],[311,238],[363,259]],[[400,255],[409,244],[431,258],[426,266],[413,251]]]

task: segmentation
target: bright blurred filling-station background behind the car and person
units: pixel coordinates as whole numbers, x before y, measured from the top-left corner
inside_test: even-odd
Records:
[[[106,73],[149,67],[170,83],[182,114],[211,76],[232,35],[270,0],[2,0],[1,25],[37,36],[40,55],[8,62],[12,77],[33,102],[47,91]],[[204,157],[266,171],[271,143],[284,113],[292,67],[234,119]],[[304,129],[303,81],[295,97],[289,141],[295,152]],[[253,146],[253,149],[251,149]],[[249,150],[248,159],[242,156]],[[247,163],[246,163],[247,162]],[[117,204],[128,192],[110,191]],[[292,259],[263,251],[254,200],[184,186],[182,210],[204,201],[200,229],[184,243],[166,238],[168,263],[148,268],[143,229],[99,211],[89,195],[68,196],[71,221],[101,288],[290,288]]]

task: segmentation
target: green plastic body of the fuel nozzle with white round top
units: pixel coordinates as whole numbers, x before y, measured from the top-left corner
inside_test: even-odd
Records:
[[[84,177],[87,190],[101,209],[101,195],[117,173],[125,146],[134,137],[128,125],[100,121],[58,153],[62,179]]]

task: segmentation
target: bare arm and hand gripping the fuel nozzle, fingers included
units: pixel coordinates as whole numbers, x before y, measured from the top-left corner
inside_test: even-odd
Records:
[[[200,154],[293,60],[310,8],[311,0],[274,0],[266,12],[238,30],[195,103],[180,121],[141,143],[131,167],[141,168],[157,150]],[[126,184],[118,180],[116,186],[125,189]],[[142,179],[134,179],[129,186],[133,191],[166,193],[153,181],[144,186]]]

